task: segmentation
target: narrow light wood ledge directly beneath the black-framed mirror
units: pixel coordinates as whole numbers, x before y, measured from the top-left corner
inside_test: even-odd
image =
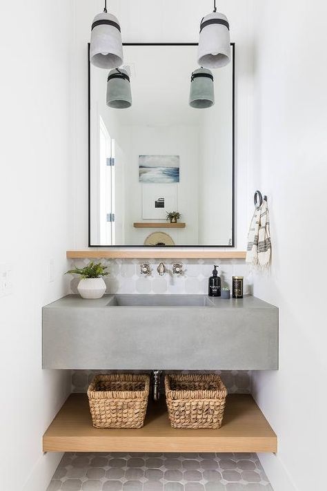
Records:
[[[101,251],[87,249],[86,251],[67,251],[68,259],[245,259],[245,251],[195,251],[195,250],[176,250],[175,248],[144,247],[141,250],[122,249]]]

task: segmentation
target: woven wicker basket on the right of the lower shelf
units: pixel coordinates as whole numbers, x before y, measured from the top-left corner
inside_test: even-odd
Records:
[[[173,428],[221,427],[227,390],[218,375],[166,375],[165,389]]]

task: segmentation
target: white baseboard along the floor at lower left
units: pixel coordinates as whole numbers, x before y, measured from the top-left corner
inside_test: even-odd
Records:
[[[46,491],[63,454],[42,454],[28,477],[22,491]]]

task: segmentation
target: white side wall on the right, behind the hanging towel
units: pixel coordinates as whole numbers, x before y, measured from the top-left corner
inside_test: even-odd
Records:
[[[326,487],[327,4],[255,0],[252,189],[268,195],[273,261],[254,294],[279,307],[279,372],[254,374],[279,439],[275,491]]]

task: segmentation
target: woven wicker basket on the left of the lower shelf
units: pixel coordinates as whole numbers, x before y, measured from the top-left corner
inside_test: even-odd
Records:
[[[96,428],[141,428],[146,417],[150,378],[147,375],[96,375],[88,402]]]

